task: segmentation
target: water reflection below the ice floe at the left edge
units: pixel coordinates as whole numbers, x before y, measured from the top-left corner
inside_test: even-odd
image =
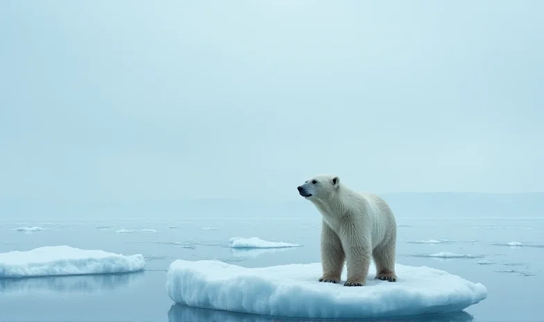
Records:
[[[0,294],[35,293],[96,293],[141,282],[144,272],[96,274],[81,276],[43,276],[32,278],[0,278]]]

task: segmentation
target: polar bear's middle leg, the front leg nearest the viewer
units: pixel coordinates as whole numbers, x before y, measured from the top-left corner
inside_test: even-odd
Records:
[[[344,283],[344,286],[366,285],[366,277],[368,276],[372,256],[370,235],[365,232],[351,232],[348,230],[344,245],[348,262],[348,280]]]

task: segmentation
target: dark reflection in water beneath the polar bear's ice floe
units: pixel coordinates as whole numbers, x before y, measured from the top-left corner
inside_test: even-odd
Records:
[[[168,312],[169,322],[280,322],[280,321],[334,321],[332,319],[291,319],[256,314],[243,314],[220,310],[207,310],[187,305],[174,304]],[[449,314],[429,314],[398,319],[341,319],[339,321],[380,321],[380,322],[468,322],[473,321],[473,316],[467,312],[454,312]]]

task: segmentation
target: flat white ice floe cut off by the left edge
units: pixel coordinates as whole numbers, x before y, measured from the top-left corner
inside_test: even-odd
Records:
[[[144,256],[119,255],[70,246],[44,246],[0,253],[0,278],[128,273],[144,269]]]

